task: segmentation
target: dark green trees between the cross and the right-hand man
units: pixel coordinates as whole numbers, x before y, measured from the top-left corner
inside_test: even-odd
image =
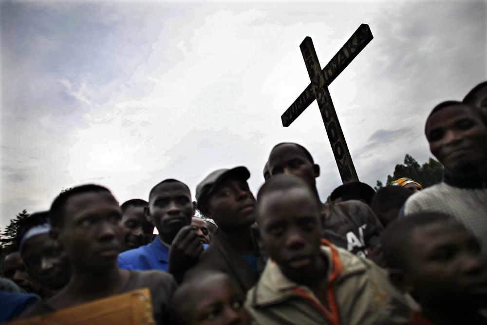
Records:
[[[404,157],[404,164],[397,164],[395,166],[393,175],[387,176],[386,184],[401,177],[408,177],[421,184],[423,188],[427,188],[441,182],[442,176],[443,166],[438,161],[430,158],[428,162],[421,166],[412,156],[406,154]],[[377,187],[375,187],[375,190],[380,188],[379,183],[382,185],[382,183],[377,180]]]

